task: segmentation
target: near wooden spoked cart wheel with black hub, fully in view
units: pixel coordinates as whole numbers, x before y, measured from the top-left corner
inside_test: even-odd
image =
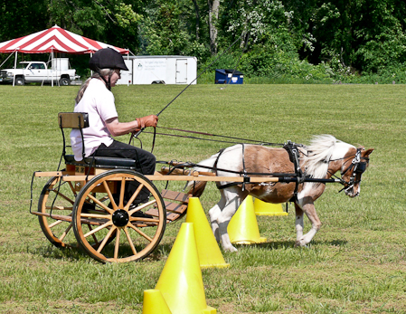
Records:
[[[137,186],[132,195],[127,195],[128,185]],[[148,191],[149,198],[143,204],[133,205],[141,189]],[[97,197],[93,196],[95,191]],[[94,202],[105,212],[89,213],[83,206],[86,202]],[[80,190],[73,207],[76,239],[82,249],[99,262],[141,260],[155,250],[165,233],[162,196],[151,181],[132,170],[115,169],[95,176]],[[84,230],[83,224],[90,224],[92,230]],[[95,236],[107,239],[113,234],[115,241],[94,245]]]

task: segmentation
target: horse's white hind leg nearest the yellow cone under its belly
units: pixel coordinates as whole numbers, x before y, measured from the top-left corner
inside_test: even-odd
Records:
[[[229,190],[224,190],[226,205],[222,209],[222,213],[217,217],[219,224],[220,237],[222,239],[222,248],[224,251],[236,252],[237,249],[231,244],[230,236],[227,231],[227,226],[230,223],[231,217],[241,205],[242,200],[248,195],[247,192],[242,192],[238,187],[232,187]]]

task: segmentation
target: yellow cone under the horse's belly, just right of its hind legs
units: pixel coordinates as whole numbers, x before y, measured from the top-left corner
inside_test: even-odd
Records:
[[[227,232],[231,243],[235,244],[264,243],[267,241],[266,238],[260,237],[251,195],[244,199],[237,212],[232,216]]]

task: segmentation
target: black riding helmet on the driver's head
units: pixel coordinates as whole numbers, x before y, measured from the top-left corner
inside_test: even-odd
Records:
[[[128,71],[122,55],[112,48],[104,48],[95,52],[89,61],[90,70],[120,69]]]

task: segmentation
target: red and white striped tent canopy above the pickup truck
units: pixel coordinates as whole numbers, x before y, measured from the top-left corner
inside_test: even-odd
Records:
[[[0,52],[24,52],[24,53],[93,53],[103,48],[113,48],[121,54],[127,54],[128,50],[115,47],[108,43],[100,43],[76,33],[65,31],[58,25],[38,33],[0,43]]]

